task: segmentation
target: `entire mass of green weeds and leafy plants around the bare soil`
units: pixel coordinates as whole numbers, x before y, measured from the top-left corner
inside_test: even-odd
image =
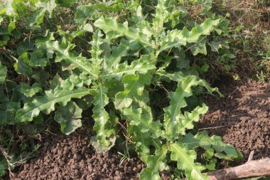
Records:
[[[239,78],[244,60],[237,60],[253,57],[255,46],[247,39],[255,35],[242,23],[262,15],[246,20],[244,11],[234,30],[227,18],[242,6],[224,17],[212,13],[223,10],[210,0],[6,1],[0,11],[0,123],[37,134],[55,121],[70,134],[91,120],[96,133],[91,144],[98,152],[124,134],[146,164],[141,179],[159,179],[170,162],[188,179],[207,179],[201,171],[212,170],[217,161],[211,159],[227,163],[242,157],[221,137],[190,132],[207,112],[199,96],[221,95],[200,77]],[[209,164],[195,162],[206,151],[212,152]],[[129,160],[127,145],[121,155],[121,163]]]

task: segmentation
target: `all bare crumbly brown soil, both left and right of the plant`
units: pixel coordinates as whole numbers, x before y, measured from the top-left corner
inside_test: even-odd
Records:
[[[225,97],[207,98],[210,111],[198,127],[222,136],[242,151],[245,159],[252,150],[254,159],[270,157],[270,85],[248,80],[217,86]],[[139,159],[120,164],[116,151],[99,155],[89,145],[90,137],[83,134],[46,139],[36,158],[11,179],[139,179],[144,168]]]

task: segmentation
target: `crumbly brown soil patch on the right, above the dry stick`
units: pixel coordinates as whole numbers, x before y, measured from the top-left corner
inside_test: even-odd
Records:
[[[237,80],[218,86],[225,97],[207,98],[209,112],[200,128],[234,145],[244,160],[252,150],[254,159],[270,157],[270,84]]]

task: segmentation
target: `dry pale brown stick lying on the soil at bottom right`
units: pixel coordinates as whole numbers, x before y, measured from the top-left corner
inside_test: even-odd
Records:
[[[210,180],[229,180],[254,176],[270,175],[270,159],[250,161],[240,166],[221,169],[207,173]]]

